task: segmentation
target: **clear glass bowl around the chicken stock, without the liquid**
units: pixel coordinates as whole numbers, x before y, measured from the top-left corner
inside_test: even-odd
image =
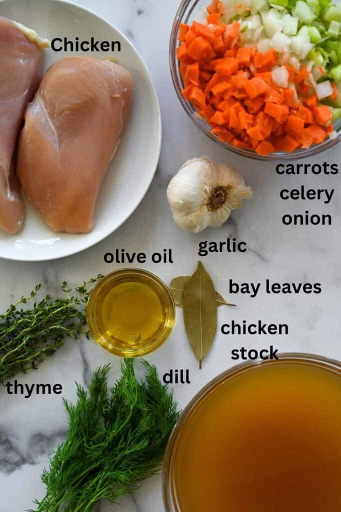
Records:
[[[318,366],[320,368],[328,369],[337,375],[341,376],[341,362],[327,359],[323,356],[317,356],[312,354],[301,354],[301,353],[285,353],[279,354],[280,361],[287,362],[299,362],[300,364],[305,364],[309,366]],[[176,496],[176,488],[175,488],[175,478],[173,465],[175,464],[176,451],[178,439],[181,434],[181,430],[186,425],[186,422],[192,414],[200,408],[204,399],[206,399],[210,394],[214,393],[221,385],[223,385],[226,381],[233,379],[240,374],[247,372],[249,370],[255,369],[260,365],[276,365],[279,361],[270,360],[270,361],[247,361],[240,365],[234,366],[233,368],[223,372],[214,378],[211,382],[209,382],[206,386],[204,386],[190,401],[188,406],[181,413],[180,418],[178,419],[173,432],[169,438],[168,445],[166,448],[164,464],[163,464],[163,472],[162,472],[162,486],[163,486],[163,500],[164,500],[164,508],[166,512],[188,512],[187,510],[181,510],[179,505],[177,496]],[[188,433],[188,432],[187,432]]]

